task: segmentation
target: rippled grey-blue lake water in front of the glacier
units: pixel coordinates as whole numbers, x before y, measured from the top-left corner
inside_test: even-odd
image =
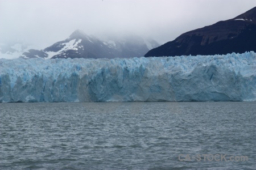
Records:
[[[0,103],[0,169],[256,169],[255,143],[255,102]]]

